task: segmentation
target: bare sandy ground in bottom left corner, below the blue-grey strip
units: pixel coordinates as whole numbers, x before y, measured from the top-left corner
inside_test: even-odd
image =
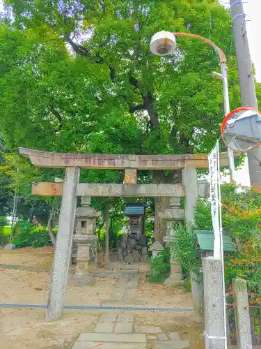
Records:
[[[71,349],[80,332],[91,332],[99,314],[65,311],[63,319],[45,322],[42,309],[1,309],[1,349]]]

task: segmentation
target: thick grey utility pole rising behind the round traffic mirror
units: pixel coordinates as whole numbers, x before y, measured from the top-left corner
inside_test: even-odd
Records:
[[[232,27],[237,55],[237,70],[242,107],[253,107],[258,110],[255,93],[255,78],[246,32],[246,15],[242,0],[230,0]],[[251,186],[261,185],[261,147],[248,152],[248,168]]]

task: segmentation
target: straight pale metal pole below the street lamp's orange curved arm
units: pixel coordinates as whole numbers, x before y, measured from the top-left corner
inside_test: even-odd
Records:
[[[221,74],[223,82],[223,105],[225,116],[230,113],[229,93],[228,93],[228,67],[226,62],[221,61]],[[234,152],[228,147],[228,163],[230,172],[230,181],[235,181],[235,163],[234,163]]]

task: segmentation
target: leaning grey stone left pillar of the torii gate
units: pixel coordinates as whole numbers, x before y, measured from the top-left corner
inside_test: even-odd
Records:
[[[47,304],[47,321],[59,320],[63,313],[64,294],[68,279],[72,232],[76,209],[76,188],[79,168],[66,168],[63,181],[63,196],[58,222],[56,249],[52,267],[52,279]]]

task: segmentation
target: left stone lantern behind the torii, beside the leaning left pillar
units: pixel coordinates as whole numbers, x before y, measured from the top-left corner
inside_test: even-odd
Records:
[[[93,283],[93,278],[88,274],[88,263],[90,260],[90,246],[96,240],[96,219],[101,216],[100,211],[96,211],[90,206],[90,197],[81,198],[81,207],[77,207],[75,212],[75,230],[73,236],[77,243],[76,272],[72,283],[87,285]]]

